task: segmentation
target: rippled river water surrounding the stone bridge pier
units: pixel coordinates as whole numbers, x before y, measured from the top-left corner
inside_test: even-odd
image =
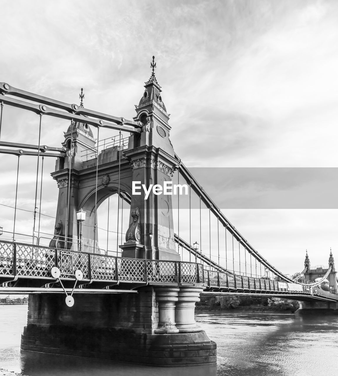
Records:
[[[20,352],[26,315],[27,305],[0,306],[0,368],[27,376],[338,375],[338,316],[200,312],[217,366],[162,368]]]

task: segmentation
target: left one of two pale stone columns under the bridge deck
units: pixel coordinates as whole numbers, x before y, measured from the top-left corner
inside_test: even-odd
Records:
[[[178,333],[175,323],[175,305],[178,301],[178,287],[155,287],[158,302],[158,328],[155,334]]]

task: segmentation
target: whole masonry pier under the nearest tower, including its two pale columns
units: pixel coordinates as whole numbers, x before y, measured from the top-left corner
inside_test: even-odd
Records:
[[[216,362],[216,344],[193,318],[202,286],[137,293],[29,296],[21,349],[154,365]]]

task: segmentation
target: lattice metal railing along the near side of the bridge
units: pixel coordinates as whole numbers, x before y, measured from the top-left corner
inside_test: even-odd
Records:
[[[197,283],[218,291],[297,294],[338,300],[338,294],[319,287],[206,270],[195,262],[130,259],[0,241],[0,282],[20,277],[51,283],[54,279],[50,270],[54,266],[59,268],[62,279],[74,279],[75,271],[81,270],[88,282]]]

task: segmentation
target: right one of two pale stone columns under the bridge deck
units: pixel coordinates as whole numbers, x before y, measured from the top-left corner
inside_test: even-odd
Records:
[[[201,331],[195,321],[195,303],[199,302],[203,290],[201,286],[180,287],[175,309],[176,327],[180,333]]]

